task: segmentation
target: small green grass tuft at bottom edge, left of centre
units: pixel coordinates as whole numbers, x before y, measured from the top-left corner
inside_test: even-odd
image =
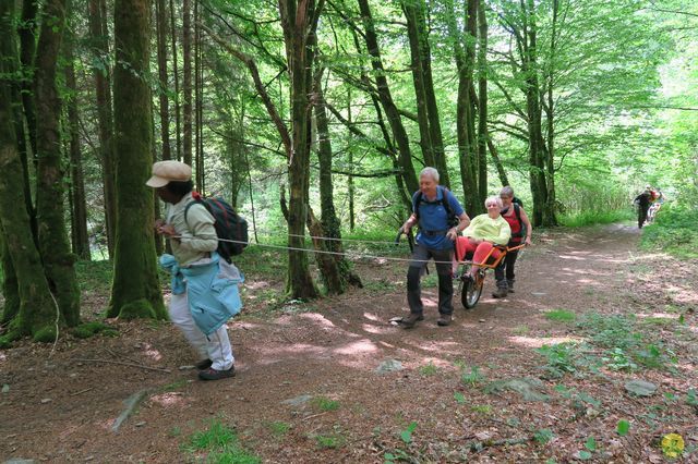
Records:
[[[206,453],[206,462],[219,464],[257,464],[262,460],[245,451],[236,431],[219,418],[212,419],[207,429],[194,432],[184,449],[190,453]]]

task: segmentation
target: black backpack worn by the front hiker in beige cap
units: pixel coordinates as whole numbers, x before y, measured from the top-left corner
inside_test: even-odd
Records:
[[[206,210],[214,217],[214,228],[218,239],[231,240],[233,242],[218,241],[216,252],[226,261],[230,262],[231,257],[242,254],[249,243],[248,221],[238,215],[232,206],[220,197],[202,197],[198,194],[192,195],[194,200],[190,202],[184,208],[184,221],[186,221],[186,212],[195,203],[204,205]]]

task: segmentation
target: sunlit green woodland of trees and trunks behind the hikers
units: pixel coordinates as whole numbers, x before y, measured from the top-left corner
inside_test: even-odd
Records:
[[[697,28],[682,0],[2,1],[0,345],[81,323],[79,259],[113,262],[108,317],[167,317],[159,159],[293,248],[394,236],[424,166],[471,217],[506,184],[535,227],[646,184],[695,213]],[[289,298],[360,284],[309,255]]]

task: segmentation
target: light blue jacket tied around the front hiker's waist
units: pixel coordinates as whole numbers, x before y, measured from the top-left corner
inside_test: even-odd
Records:
[[[172,293],[186,292],[189,310],[196,326],[206,335],[218,330],[242,307],[238,283],[244,276],[233,265],[212,253],[210,259],[180,268],[174,256],[160,256],[160,267],[172,276]]]

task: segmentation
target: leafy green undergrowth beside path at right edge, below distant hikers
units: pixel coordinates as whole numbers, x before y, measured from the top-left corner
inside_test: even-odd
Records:
[[[657,219],[642,229],[640,247],[683,259],[698,258],[698,209],[664,205]]]

